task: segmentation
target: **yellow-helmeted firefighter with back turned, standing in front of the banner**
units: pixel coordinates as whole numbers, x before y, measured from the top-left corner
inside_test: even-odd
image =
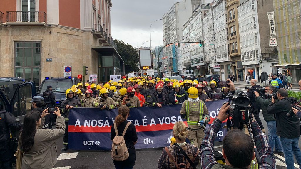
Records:
[[[210,121],[209,112],[205,103],[198,97],[197,88],[190,87],[188,94],[189,98],[182,104],[180,114],[182,118],[187,119],[187,125],[190,129],[187,138],[191,144],[200,148],[205,136],[206,124]]]

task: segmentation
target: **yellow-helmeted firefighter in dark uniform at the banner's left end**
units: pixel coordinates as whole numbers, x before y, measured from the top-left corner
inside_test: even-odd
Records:
[[[66,151],[68,149],[69,111],[73,107],[82,107],[82,104],[79,102],[79,100],[74,98],[74,91],[72,89],[66,90],[66,97],[67,99],[62,101],[60,106],[61,115],[65,118],[66,125],[65,134],[63,136],[64,147],[61,149],[61,151]]]

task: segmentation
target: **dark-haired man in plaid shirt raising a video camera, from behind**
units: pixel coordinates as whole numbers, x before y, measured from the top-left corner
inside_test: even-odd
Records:
[[[229,85],[230,91],[234,94],[235,87],[231,81]],[[205,138],[200,146],[203,169],[250,168],[251,161],[255,158],[255,153],[253,151],[253,140],[248,135],[244,134],[244,132],[238,129],[232,129],[228,132],[223,140],[222,154],[223,158],[225,158],[226,164],[222,165],[216,162],[213,153],[214,140],[217,132],[221,128],[222,121],[228,118],[226,112],[229,106],[228,104],[222,106],[216,121],[214,121],[209,129],[207,129],[205,132]],[[252,121],[251,128],[253,131],[254,142],[262,162],[262,164],[259,165],[259,168],[276,168],[276,161],[275,157],[273,156],[272,149],[268,145],[268,140],[256,121]]]

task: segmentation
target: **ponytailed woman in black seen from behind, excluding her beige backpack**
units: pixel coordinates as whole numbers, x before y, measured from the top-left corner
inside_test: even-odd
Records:
[[[115,117],[115,124],[117,126],[118,134],[116,134],[116,129],[114,125],[111,127],[111,140],[114,140],[115,136],[121,136],[124,129],[126,128],[126,124],[128,121],[126,120],[129,117],[130,109],[127,106],[120,106],[118,109],[118,115]],[[124,141],[126,142],[126,147],[129,149],[129,158],[127,158],[124,161],[114,161],[113,163],[115,165],[116,169],[119,168],[127,168],[132,169],[135,165],[136,161],[136,150],[135,150],[135,144],[138,141],[138,136],[136,132],[135,125],[133,123],[129,124],[129,127],[126,130],[126,133],[124,134]]]

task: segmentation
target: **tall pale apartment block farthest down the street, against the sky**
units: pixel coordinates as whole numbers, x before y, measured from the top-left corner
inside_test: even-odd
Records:
[[[200,4],[199,0],[183,0],[176,2],[172,8],[163,15],[163,42],[164,45],[182,40],[183,24],[191,17],[194,8]],[[178,66],[176,44],[164,48],[164,67],[170,74],[178,74],[182,67]],[[181,60],[180,60],[181,62]]]

